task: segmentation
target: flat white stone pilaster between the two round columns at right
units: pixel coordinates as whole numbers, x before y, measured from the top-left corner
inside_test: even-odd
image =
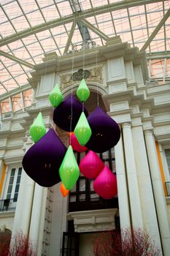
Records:
[[[132,135],[144,228],[150,234],[150,238],[155,241],[156,246],[161,249],[158,219],[155,211],[150,170],[147,162],[147,151],[141,123],[132,127]]]

